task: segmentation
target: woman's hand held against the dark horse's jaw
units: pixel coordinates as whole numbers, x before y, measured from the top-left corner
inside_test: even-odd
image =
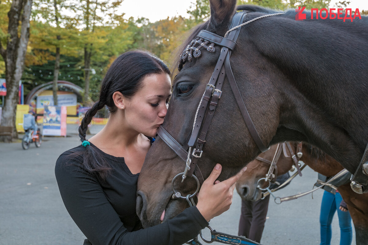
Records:
[[[244,167],[239,173],[222,182],[216,180],[222,170],[217,163],[212,173],[202,184],[198,194],[197,208],[202,216],[209,221],[230,208],[236,181],[247,168]]]

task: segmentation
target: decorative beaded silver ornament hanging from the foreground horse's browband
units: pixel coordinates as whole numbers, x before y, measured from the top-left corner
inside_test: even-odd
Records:
[[[208,43],[209,41],[201,37],[195,37],[195,39],[193,39],[192,42],[188,44],[188,46],[184,49],[183,53],[180,55],[179,65],[178,65],[179,71],[181,71],[181,68],[183,68],[183,65],[185,64],[186,61],[191,62],[192,57],[198,58],[199,56],[201,56],[200,48],[205,48],[206,50],[210,52],[215,52],[215,43],[210,43],[210,45],[207,46]],[[199,44],[199,46],[195,47],[197,46],[197,44]]]

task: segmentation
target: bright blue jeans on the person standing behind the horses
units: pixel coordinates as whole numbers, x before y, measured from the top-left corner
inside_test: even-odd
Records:
[[[340,208],[342,197],[339,192],[332,194],[328,191],[323,193],[321,203],[321,214],[319,223],[321,225],[321,244],[330,245],[331,243],[331,223],[333,215],[337,210],[340,226],[340,245],[350,245],[353,239],[353,230],[351,228],[351,217],[349,212],[343,212]]]

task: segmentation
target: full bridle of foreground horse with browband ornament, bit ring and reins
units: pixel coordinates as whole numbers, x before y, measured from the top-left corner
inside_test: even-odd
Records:
[[[272,15],[280,15],[283,13],[277,13],[277,14],[270,14],[270,15],[263,15],[262,17],[258,17],[255,19],[252,19],[251,21],[254,21],[259,18],[268,17]],[[204,178],[202,176],[201,171],[199,170],[199,167],[197,165],[198,159],[201,158],[203,153],[203,146],[206,143],[206,136],[207,132],[209,130],[209,126],[213,117],[213,114],[215,112],[215,109],[217,107],[217,104],[219,102],[219,99],[222,95],[222,86],[225,80],[225,76],[227,77],[227,80],[229,81],[231,90],[233,91],[233,94],[235,96],[236,102],[238,104],[238,107],[240,108],[241,115],[243,116],[243,119],[245,121],[245,124],[250,131],[250,134],[255,141],[257,147],[262,151],[265,152],[269,148],[267,148],[262,140],[261,137],[259,137],[259,134],[257,130],[255,129],[255,126],[252,122],[252,119],[250,118],[250,115],[248,113],[247,108],[245,107],[244,101],[241,97],[240,91],[238,89],[238,86],[236,84],[233,72],[231,70],[230,66],[230,55],[231,51],[234,49],[236,45],[236,40],[240,33],[240,27],[241,25],[247,24],[251,21],[244,22],[246,13],[244,11],[236,12],[232,19],[231,23],[231,29],[229,30],[229,34],[226,37],[222,37],[219,35],[216,35],[215,33],[209,32],[207,30],[201,30],[198,35],[196,36],[196,39],[194,39],[191,44],[200,44],[197,48],[194,49],[194,57],[198,57],[200,55],[199,48],[205,47],[210,52],[214,52],[214,45],[221,46],[221,52],[220,57],[217,60],[217,64],[215,66],[215,69],[212,73],[212,76],[206,84],[205,92],[201,98],[201,101],[199,102],[196,116],[194,118],[194,125],[191,132],[191,135],[189,137],[188,143],[186,144],[186,149],[179,144],[174,137],[172,137],[162,126],[158,129],[158,135],[160,138],[167,144],[171,149],[173,149],[176,154],[183,159],[186,162],[185,170],[182,173],[177,174],[173,180],[172,180],[172,188],[173,188],[173,199],[176,198],[184,198],[187,200],[190,206],[195,205],[193,201],[193,197],[197,194],[200,185],[203,183]],[[242,24],[243,23],[243,24]],[[207,46],[210,42],[210,45]],[[190,45],[191,45],[190,44]],[[191,53],[189,53],[190,45],[187,46],[187,48],[184,50],[184,55],[188,55],[188,60],[191,59]],[[196,56],[197,55],[197,56]],[[181,56],[180,59],[183,57]],[[182,67],[182,63],[179,64],[179,71]],[[207,109],[208,108],[208,109]],[[206,114],[207,112],[207,114]],[[192,147],[195,148],[192,151]],[[194,174],[195,171],[195,174]],[[182,176],[182,182],[186,177],[193,177],[197,181],[197,190],[192,195],[187,195],[186,197],[183,197],[180,192],[177,192],[174,188],[174,181],[177,177]],[[211,243],[213,241],[222,242],[225,244],[258,244],[257,242],[254,242],[248,238],[245,237],[238,237],[238,236],[232,236],[224,233],[216,232],[215,230],[211,231],[211,240],[207,241],[200,232],[201,238],[207,242]],[[192,241],[188,242],[188,244],[192,245],[199,245],[200,242],[197,238],[193,239]]]

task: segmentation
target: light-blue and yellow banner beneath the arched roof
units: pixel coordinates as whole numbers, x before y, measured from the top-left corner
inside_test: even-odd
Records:
[[[66,91],[57,91],[57,105],[67,107],[67,115],[77,115],[77,94]],[[54,96],[52,90],[45,90],[37,96],[37,114],[43,114],[43,107],[54,106]]]

